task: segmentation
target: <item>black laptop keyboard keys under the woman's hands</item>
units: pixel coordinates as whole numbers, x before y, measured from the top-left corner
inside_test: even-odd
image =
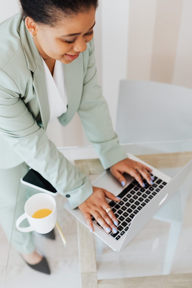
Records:
[[[119,202],[109,202],[109,205],[119,222],[117,233],[108,233],[111,237],[119,240],[129,229],[133,217],[167,184],[153,174],[151,174],[151,176],[154,177],[153,185],[149,185],[147,181],[143,179],[145,187],[141,187],[134,179],[119,195],[117,195],[121,198]],[[92,221],[102,228],[93,217]]]

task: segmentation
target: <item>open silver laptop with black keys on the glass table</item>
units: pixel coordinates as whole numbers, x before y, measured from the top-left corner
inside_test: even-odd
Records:
[[[122,187],[109,171],[104,171],[100,177],[92,182],[94,186],[102,187],[121,198],[119,202],[108,199],[108,203],[119,222],[116,234],[105,232],[92,217],[93,233],[111,249],[118,252],[132,240],[161,206],[168,202],[178,191],[192,169],[191,159],[173,178],[170,178],[132,154],[128,154],[128,157],[153,169],[151,173],[155,178],[153,185],[149,185],[144,180],[145,188],[143,188],[133,177],[126,175],[127,183],[125,187]],[[83,214],[78,208],[71,209],[69,202],[65,204],[65,208],[88,227]]]

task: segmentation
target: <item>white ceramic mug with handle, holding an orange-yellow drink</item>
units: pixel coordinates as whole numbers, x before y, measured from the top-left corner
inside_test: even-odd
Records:
[[[33,218],[33,214],[40,209],[50,209],[52,210],[52,213],[43,218]],[[40,234],[46,234],[54,228],[57,219],[57,211],[56,202],[53,196],[45,193],[38,193],[31,196],[25,203],[24,211],[25,213],[16,221],[16,227],[19,231],[36,231]],[[19,227],[19,224],[26,218],[30,226],[25,228]]]

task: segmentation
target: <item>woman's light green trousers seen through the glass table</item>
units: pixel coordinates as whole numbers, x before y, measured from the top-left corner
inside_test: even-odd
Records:
[[[35,250],[33,232],[20,232],[16,228],[16,220],[24,213],[25,202],[32,196],[30,188],[20,183],[20,177],[28,170],[25,162],[14,168],[0,169],[0,225],[15,250],[24,254]],[[20,226],[29,226],[28,221],[22,221]]]

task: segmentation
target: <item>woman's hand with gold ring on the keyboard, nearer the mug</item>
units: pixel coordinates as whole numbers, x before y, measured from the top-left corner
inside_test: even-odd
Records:
[[[116,226],[118,225],[118,220],[112,210],[110,210],[108,213],[105,211],[110,207],[105,197],[115,202],[120,200],[120,198],[115,197],[111,192],[105,189],[93,187],[93,194],[78,207],[87,221],[90,232],[94,231],[91,220],[92,215],[107,233],[110,233],[112,230],[112,232],[115,234],[117,233]]]

